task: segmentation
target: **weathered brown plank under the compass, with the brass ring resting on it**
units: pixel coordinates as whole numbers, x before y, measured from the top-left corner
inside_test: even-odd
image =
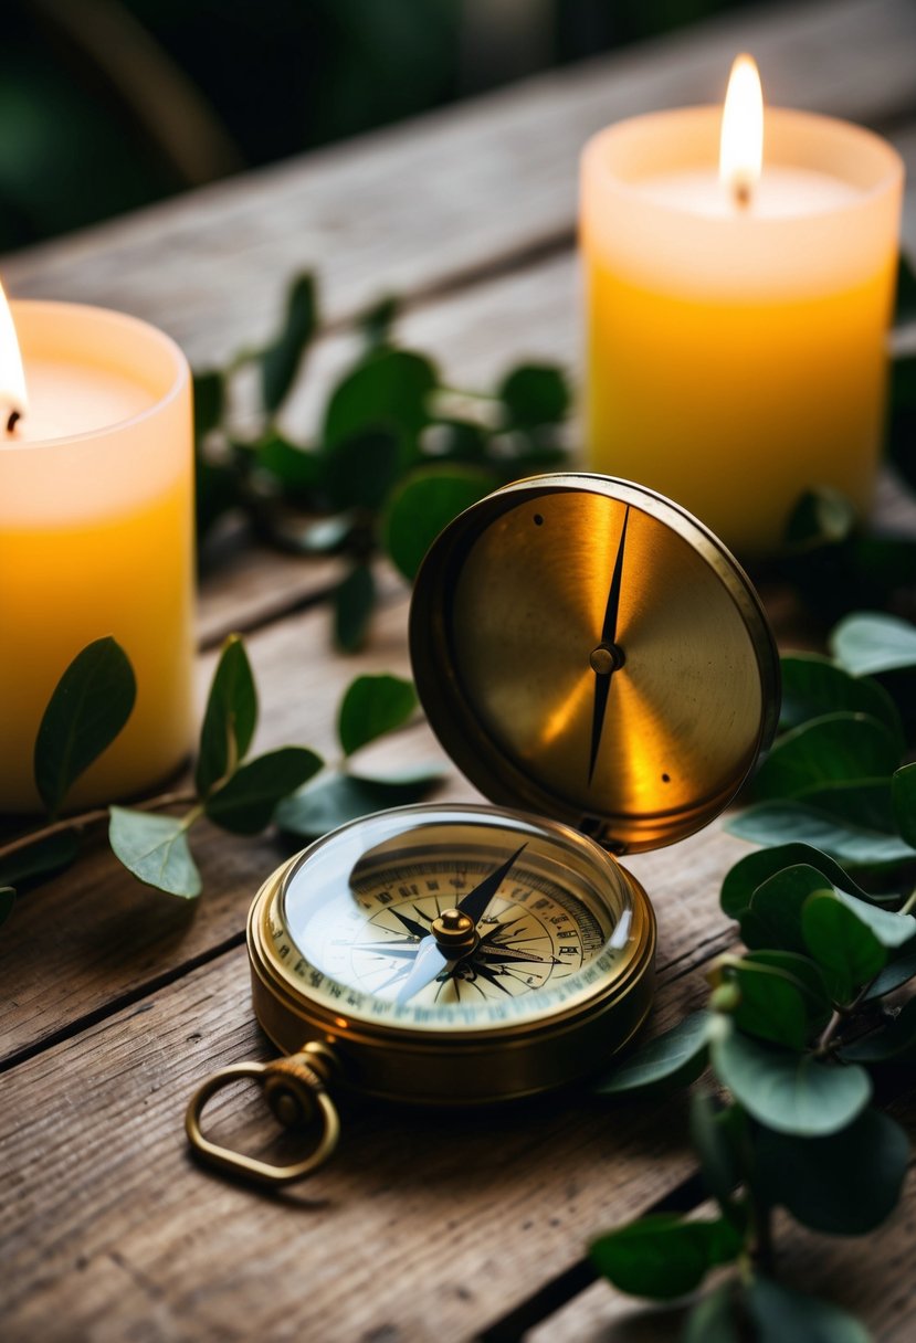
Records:
[[[689,843],[681,865],[661,900],[654,1029],[697,1005],[689,971],[713,945],[697,944],[715,921],[708,847]],[[682,916],[694,936],[672,959]],[[568,1093],[473,1115],[352,1104],[326,1170],[259,1197],[197,1170],[181,1131],[191,1089],[243,1057],[269,1046],[239,950],[4,1078],[9,1343],[467,1338],[575,1262],[608,1209],[634,1215],[689,1171],[682,1100],[608,1109]]]

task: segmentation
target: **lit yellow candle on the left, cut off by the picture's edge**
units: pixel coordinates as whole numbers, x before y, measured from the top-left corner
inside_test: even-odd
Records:
[[[165,778],[191,745],[191,376],[136,318],[38,302],[11,318],[1,291],[0,305],[0,811],[38,807],[44,705],[109,634],[137,701],[68,804],[110,800]]]

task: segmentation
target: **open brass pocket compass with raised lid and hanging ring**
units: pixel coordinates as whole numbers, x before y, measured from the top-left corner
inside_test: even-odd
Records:
[[[649,1011],[655,920],[616,855],[705,826],[772,737],[779,662],[723,544],[651,490],[540,475],[455,518],[410,618],[430,724],[494,803],[398,807],[279,868],[248,916],[254,1007],[286,1054],[208,1078],[187,1131],[211,1162],[298,1179],[337,1138],[328,1096],[473,1105],[596,1070]],[[549,818],[549,819],[544,819]],[[207,1139],[257,1077],[293,1166]]]

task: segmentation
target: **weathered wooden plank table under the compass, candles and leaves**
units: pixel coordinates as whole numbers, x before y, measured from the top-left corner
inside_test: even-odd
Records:
[[[348,318],[381,291],[406,297],[403,338],[458,384],[492,384],[522,356],[575,364],[582,142],[623,115],[719,97],[743,48],[772,102],[881,129],[916,180],[916,5],[821,0],[735,15],[211,187],[9,258],[3,274],[15,294],[146,317],[203,368],[265,337],[289,277],[317,267],[330,322],[300,422],[348,356]],[[905,236],[916,251],[912,191]],[[201,690],[223,635],[243,630],[262,748],[329,749],[352,676],[408,672],[407,592],[394,583],[368,650],[329,651],[318,598],[334,576],[333,564],[251,547],[203,584]],[[404,761],[438,747],[415,725],[384,752]],[[443,795],[473,792],[453,776]],[[704,968],[733,939],[719,882],[741,850],[712,827],[633,861],[659,919],[653,1029],[704,999]],[[196,909],[136,886],[98,846],[4,929],[7,1343],[673,1336],[672,1315],[591,1283],[583,1246],[646,1209],[696,1203],[682,1099],[608,1109],[564,1096],[453,1117],[367,1105],[347,1116],[333,1163],[278,1198],[188,1159],[189,1091],[219,1065],[271,1053],[251,1014],[243,924],[281,849],[208,831],[197,854]],[[860,1312],[880,1339],[911,1339],[908,1206],[865,1246],[787,1232],[788,1280]]]

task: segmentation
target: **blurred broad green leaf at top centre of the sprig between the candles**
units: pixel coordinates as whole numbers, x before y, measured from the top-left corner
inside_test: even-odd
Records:
[[[402,465],[411,459],[416,435],[428,423],[428,399],[438,384],[435,365],[406,349],[371,351],[330,393],[325,410],[325,450],[367,430],[392,430],[402,443]]]

